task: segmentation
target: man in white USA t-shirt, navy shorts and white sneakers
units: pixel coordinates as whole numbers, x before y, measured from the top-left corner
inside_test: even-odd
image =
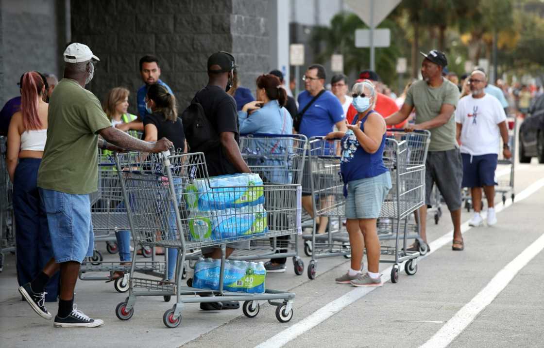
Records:
[[[487,78],[484,72],[474,71],[469,77],[471,94],[461,98],[455,111],[457,141],[461,143],[463,159],[462,187],[470,187],[474,216],[468,223],[480,226],[481,187],[487,199],[487,225],[497,223],[494,210],[495,170],[499,154],[500,137],[503,138],[503,155],[512,154],[508,145],[506,115],[499,100],[484,91]]]

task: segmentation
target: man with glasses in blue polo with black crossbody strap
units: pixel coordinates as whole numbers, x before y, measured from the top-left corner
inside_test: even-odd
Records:
[[[298,96],[299,114],[304,111],[308,103],[312,102],[314,97],[321,94],[302,114],[298,132],[304,134],[308,139],[314,136],[326,136],[332,132],[335,125],[339,131],[345,132],[347,128],[342,104],[331,91],[325,91],[325,68],[322,65],[313,64],[308,67],[302,79],[304,79],[305,91]],[[312,171],[309,162],[306,162],[304,170],[307,173]],[[308,175],[305,175],[305,178],[308,178]],[[311,192],[308,192],[310,186],[308,180],[303,182],[302,186],[305,186],[302,187],[302,207],[313,217],[312,196]],[[326,200],[328,201],[329,198]],[[325,232],[328,222],[328,218],[320,217],[317,224],[318,233]]]

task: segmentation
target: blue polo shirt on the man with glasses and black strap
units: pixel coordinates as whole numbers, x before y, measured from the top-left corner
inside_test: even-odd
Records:
[[[299,94],[299,112],[311,102],[313,96],[308,91]],[[332,131],[333,126],[344,119],[342,104],[331,91],[325,91],[302,116],[300,134],[308,138],[325,136]]]

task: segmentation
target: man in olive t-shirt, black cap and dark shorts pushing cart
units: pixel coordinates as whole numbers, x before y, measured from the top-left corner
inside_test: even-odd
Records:
[[[426,252],[429,245],[426,238],[427,206],[431,205],[432,186],[436,184],[453,220],[452,250],[463,250],[461,236],[461,180],[463,168],[461,153],[455,140],[454,111],[459,100],[459,89],[442,77],[442,69],[448,65],[446,55],[438,50],[428,54],[421,53],[423,80],[417,81],[406,92],[406,99],[401,109],[385,119],[388,125],[403,122],[412,110],[416,109],[416,124],[407,125],[406,129],[429,130],[431,142],[425,162],[425,204],[419,209],[421,239],[409,250]]]

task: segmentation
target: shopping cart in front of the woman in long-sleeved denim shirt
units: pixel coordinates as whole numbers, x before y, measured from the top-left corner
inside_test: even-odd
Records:
[[[246,134],[240,136],[240,152],[253,173],[265,184],[302,183],[302,169],[307,138],[304,135]],[[281,204],[281,202],[278,202]],[[286,239],[287,238],[287,239]],[[251,241],[250,250],[236,250],[229,260],[263,260],[293,257],[296,275],[304,273],[304,262],[299,257],[298,236]]]

